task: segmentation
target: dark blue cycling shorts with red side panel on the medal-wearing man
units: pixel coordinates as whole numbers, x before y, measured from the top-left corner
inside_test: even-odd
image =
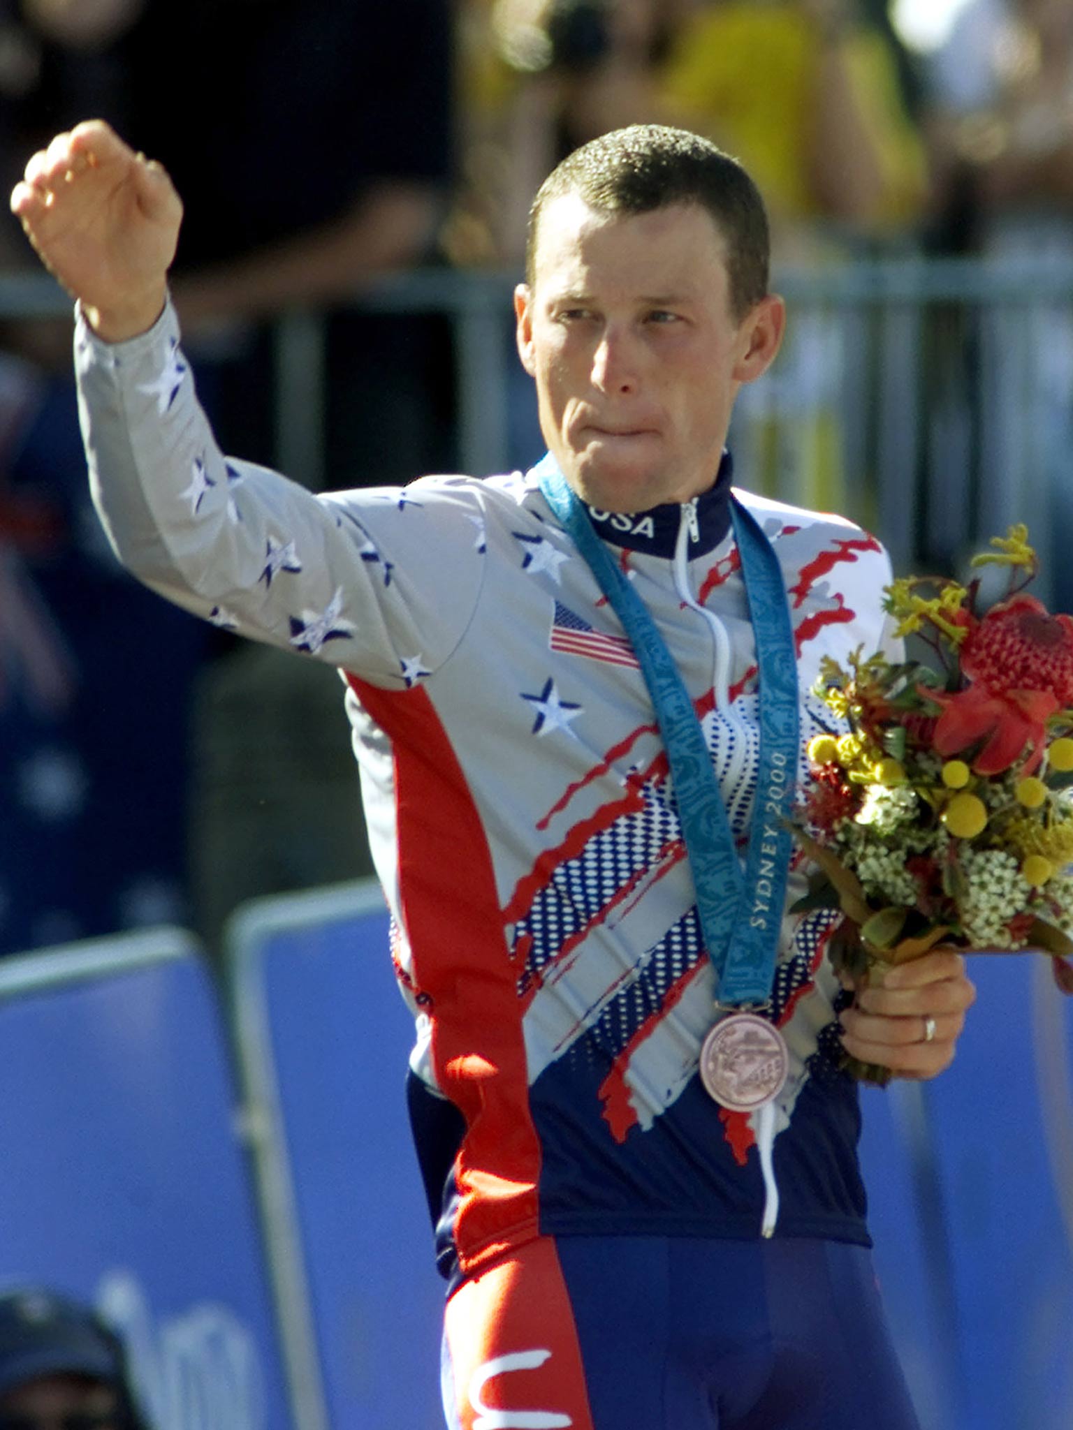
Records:
[[[451,1430],[918,1430],[871,1253],[544,1237],[446,1306]]]

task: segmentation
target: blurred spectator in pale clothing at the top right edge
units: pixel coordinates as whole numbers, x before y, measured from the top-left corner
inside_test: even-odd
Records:
[[[969,0],[931,72],[940,243],[1023,273],[984,309],[979,340],[981,531],[1027,521],[1040,591],[1073,609],[1073,307],[1033,275],[1073,265],[1073,6]]]

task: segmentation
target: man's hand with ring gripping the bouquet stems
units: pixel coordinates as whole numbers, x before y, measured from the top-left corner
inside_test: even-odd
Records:
[[[966,1008],[976,1000],[964,958],[939,948],[884,968],[881,982],[876,974],[873,978],[840,1015],[846,1051],[890,1068],[896,1077],[929,1078],[949,1068]]]

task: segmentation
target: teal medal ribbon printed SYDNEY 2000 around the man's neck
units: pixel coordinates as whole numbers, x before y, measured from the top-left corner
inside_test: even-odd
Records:
[[[743,874],[701,724],[671,652],[552,458],[536,472],[545,500],[574,538],[641,665],[671,766],[718,1002],[763,1005],[771,997],[785,904],[793,837],[783,809],[794,785],[800,738],[794,629],[778,558],[753,515],[731,498],[760,666],[760,759]]]

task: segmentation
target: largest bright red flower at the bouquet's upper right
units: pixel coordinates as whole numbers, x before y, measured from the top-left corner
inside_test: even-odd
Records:
[[[1034,596],[1013,596],[969,631],[961,646],[969,686],[957,695],[923,694],[943,706],[933,744],[949,758],[983,741],[980,775],[1009,769],[1029,744],[1023,774],[1043,758],[1044,724],[1073,704],[1073,618],[1052,616]]]

